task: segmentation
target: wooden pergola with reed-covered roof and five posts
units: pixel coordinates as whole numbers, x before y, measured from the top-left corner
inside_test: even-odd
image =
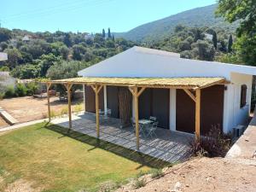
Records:
[[[139,150],[138,98],[146,88],[182,89],[195,102],[195,139],[200,139],[201,89],[216,84],[228,84],[224,78],[74,78],[47,82],[48,114],[50,122],[49,89],[52,84],[64,84],[67,89],[69,130],[72,129],[71,89],[73,84],[90,86],[96,96],[96,133],[100,137],[99,92],[103,86],[126,86],[133,96],[135,109],[137,150]]]

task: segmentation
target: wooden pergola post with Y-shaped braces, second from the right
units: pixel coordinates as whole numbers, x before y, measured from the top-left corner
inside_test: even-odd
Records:
[[[139,136],[139,124],[138,124],[138,97],[143,93],[143,90],[145,88],[143,87],[141,90],[137,90],[137,87],[129,87],[129,90],[131,91],[131,94],[134,98],[134,108],[135,108],[135,134],[136,134],[136,146],[137,151],[140,149],[140,136]]]

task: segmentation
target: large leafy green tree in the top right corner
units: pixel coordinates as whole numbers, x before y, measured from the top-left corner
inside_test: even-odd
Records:
[[[235,49],[242,61],[255,65],[256,58],[256,2],[255,0],[218,0],[218,16],[225,20],[240,21],[236,29],[237,39]]]

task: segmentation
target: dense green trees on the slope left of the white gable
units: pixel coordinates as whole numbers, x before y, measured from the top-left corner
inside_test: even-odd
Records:
[[[131,48],[134,43],[114,38],[108,33],[91,35],[82,32],[27,32],[0,28],[0,51],[8,54],[1,61],[2,71],[11,71],[15,78],[71,78],[80,69]],[[65,73],[68,72],[68,73]]]

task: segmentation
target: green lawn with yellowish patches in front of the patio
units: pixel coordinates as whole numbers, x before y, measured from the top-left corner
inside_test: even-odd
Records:
[[[0,135],[0,191],[19,179],[44,191],[96,191],[102,183],[124,183],[163,166],[168,164],[46,123]]]

